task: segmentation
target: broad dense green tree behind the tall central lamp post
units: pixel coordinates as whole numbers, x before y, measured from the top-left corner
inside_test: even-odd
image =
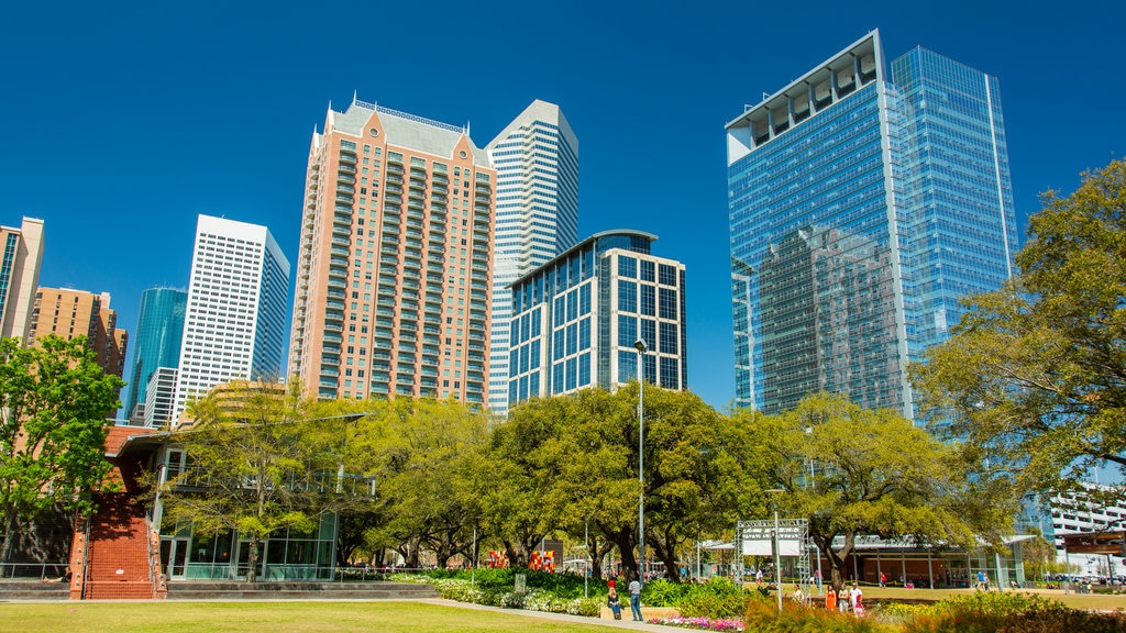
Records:
[[[613,545],[637,574],[637,398],[635,382],[533,399],[498,426],[492,461],[503,466],[482,492],[492,510],[482,514],[511,560],[546,534],[580,541],[590,526],[596,564]],[[730,526],[754,499],[750,452],[738,427],[690,392],[646,386],[644,416],[646,559],[678,578],[678,550],[698,529]]]

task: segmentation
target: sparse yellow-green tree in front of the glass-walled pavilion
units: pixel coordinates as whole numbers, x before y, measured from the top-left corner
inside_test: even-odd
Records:
[[[262,542],[284,529],[312,532],[338,492],[334,434],[304,414],[297,393],[271,383],[213,390],[189,403],[194,422],[172,437],[189,465],[162,487],[164,519],[238,532],[250,582]]]

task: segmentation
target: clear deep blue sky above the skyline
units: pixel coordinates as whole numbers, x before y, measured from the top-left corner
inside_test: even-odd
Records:
[[[295,259],[311,134],[359,99],[472,126],[533,99],[579,136],[580,238],[656,233],[687,265],[688,382],[734,395],[724,124],[878,28],[1000,78],[1021,232],[1048,188],[1126,154],[1126,2],[11,2],[0,223],[46,222],[39,283],[186,288],[197,214]],[[132,351],[132,350],[131,350]],[[132,354],[131,363],[132,363]],[[128,380],[126,375],[126,380]]]

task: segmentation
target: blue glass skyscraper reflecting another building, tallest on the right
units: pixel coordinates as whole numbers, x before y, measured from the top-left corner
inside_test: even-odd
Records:
[[[998,80],[878,32],[726,126],[736,403],[842,392],[914,417],[906,368],[1012,274]]]

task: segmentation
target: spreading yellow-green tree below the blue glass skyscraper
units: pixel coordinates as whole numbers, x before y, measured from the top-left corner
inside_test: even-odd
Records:
[[[780,490],[774,502],[783,516],[808,519],[835,587],[848,574],[844,561],[859,535],[976,547],[977,536],[1000,545],[1011,525],[1016,505],[1002,493],[1007,489],[971,478],[957,445],[893,411],[822,393],[778,416],[734,417],[757,439],[762,488]],[[842,544],[834,549],[837,537]]]

